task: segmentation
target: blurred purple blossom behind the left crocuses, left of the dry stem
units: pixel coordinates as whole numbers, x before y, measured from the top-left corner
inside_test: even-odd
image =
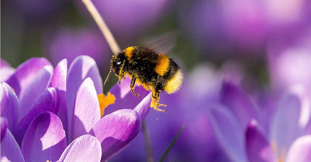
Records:
[[[71,63],[80,55],[94,58],[100,69],[109,64],[107,53],[110,50],[97,28],[60,28],[53,35],[46,34],[45,38],[45,51],[53,65],[64,58]]]

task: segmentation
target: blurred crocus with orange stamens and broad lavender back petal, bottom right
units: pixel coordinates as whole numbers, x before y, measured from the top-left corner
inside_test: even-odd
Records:
[[[310,101],[290,88],[275,104],[267,131],[251,120],[246,133],[248,160],[310,161]]]

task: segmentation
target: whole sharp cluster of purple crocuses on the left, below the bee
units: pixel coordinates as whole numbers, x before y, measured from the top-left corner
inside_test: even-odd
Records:
[[[78,56],[68,69],[66,59],[55,69],[45,58],[15,70],[2,62],[2,160],[109,160],[137,136],[150,109],[148,95],[101,117],[102,79],[89,56]]]

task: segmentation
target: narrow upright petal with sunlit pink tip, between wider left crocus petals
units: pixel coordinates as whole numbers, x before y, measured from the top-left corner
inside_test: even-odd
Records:
[[[67,81],[67,59],[60,61],[54,69],[49,87],[57,87],[59,89],[60,105],[57,116],[63,123],[64,130],[67,131],[67,96],[66,96],[66,81]]]

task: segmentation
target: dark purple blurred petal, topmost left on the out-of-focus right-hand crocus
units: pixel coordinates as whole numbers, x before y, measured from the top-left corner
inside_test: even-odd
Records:
[[[251,119],[258,119],[258,110],[250,98],[238,87],[229,82],[223,83],[220,103],[227,106],[246,129]]]

